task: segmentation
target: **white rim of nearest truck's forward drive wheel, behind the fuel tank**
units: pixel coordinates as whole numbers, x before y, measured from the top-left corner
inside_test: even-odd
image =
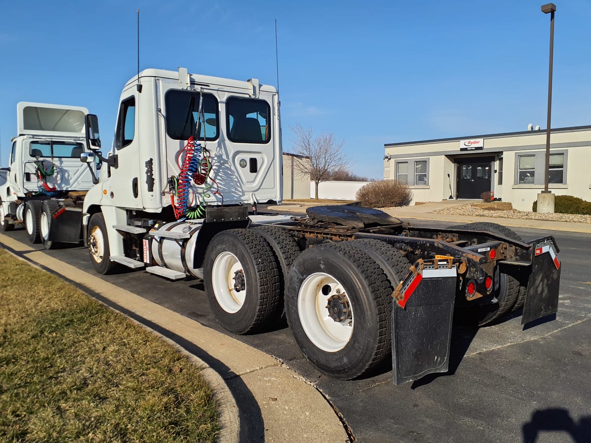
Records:
[[[231,252],[222,252],[216,257],[212,268],[213,295],[215,295],[217,304],[229,314],[235,314],[244,305],[246,299],[246,289],[236,291],[235,276],[244,269],[242,263]],[[246,276],[245,287],[246,287]]]

